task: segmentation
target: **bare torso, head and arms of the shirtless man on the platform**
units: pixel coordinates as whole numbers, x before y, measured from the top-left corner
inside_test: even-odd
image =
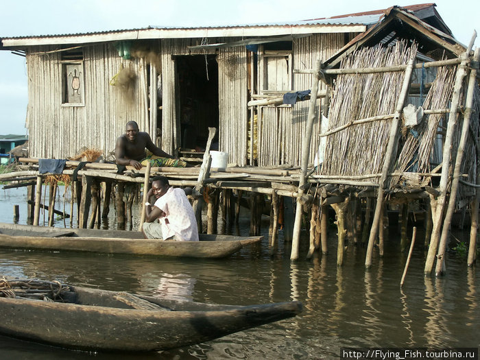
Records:
[[[125,134],[117,139],[115,145],[117,164],[131,165],[137,170],[141,169],[140,161],[147,156],[145,147],[156,156],[173,158],[173,156],[156,147],[147,132],[139,131],[139,125],[135,121],[128,121],[125,126]]]

